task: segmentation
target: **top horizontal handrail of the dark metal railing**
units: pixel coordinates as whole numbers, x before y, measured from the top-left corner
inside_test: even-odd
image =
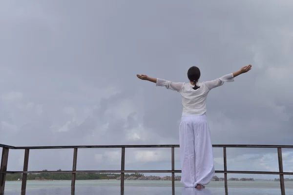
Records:
[[[8,147],[8,146],[7,146]],[[84,146],[24,146],[11,149],[72,149],[72,148],[179,148],[179,145],[84,145]],[[293,145],[212,145],[214,148],[292,148]]]

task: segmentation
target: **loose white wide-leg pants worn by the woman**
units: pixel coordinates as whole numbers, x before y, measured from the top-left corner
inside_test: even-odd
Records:
[[[207,116],[182,116],[180,123],[181,183],[207,185],[215,170]]]

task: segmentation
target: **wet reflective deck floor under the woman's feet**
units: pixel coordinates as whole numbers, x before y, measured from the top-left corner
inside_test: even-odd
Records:
[[[291,189],[286,194],[292,195]],[[4,195],[20,195],[20,191],[5,191]],[[224,188],[206,188],[197,190],[177,187],[172,191],[170,187],[126,187],[121,192],[119,187],[77,187],[75,193],[71,188],[40,188],[28,189],[25,195],[225,195]],[[249,189],[231,188],[229,195],[281,195],[280,189]]]

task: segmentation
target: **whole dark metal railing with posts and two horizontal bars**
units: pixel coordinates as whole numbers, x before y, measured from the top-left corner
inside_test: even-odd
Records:
[[[124,175],[125,173],[171,173],[172,174],[172,191],[175,188],[175,173],[181,173],[181,170],[175,170],[174,148],[179,145],[96,145],[96,146],[31,146],[31,147],[14,147],[0,144],[2,148],[2,158],[0,165],[0,194],[4,192],[6,174],[22,174],[21,192],[25,193],[27,174],[41,173],[71,173],[72,193],[75,191],[76,174],[80,173],[121,173],[121,191],[124,192]],[[293,148],[291,145],[213,145],[214,148],[223,148],[224,171],[215,171],[215,173],[224,174],[225,192],[228,195],[227,174],[264,174],[279,175],[281,195],[285,195],[284,175],[293,175],[292,172],[283,172],[282,148]],[[77,171],[77,151],[79,148],[121,148],[121,170],[100,170],[100,171]],[[171,170],[125,170],[125,149],[126,148],[171,148]],[[227,148],[277,148],[279,172],[266,171],[228,171],[227,170]],[[7,162],[9,150],[24,150],[23,171],[7,171]],[[38,149],[74,149],[72,171],[27,171],[30,150]]]

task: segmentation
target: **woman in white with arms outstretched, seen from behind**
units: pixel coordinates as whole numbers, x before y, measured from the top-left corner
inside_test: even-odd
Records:
[[[185,187],[204,188],[214,176],[214,162],[207,122],[206,99],[209,91],[219,87],[224,82],[234,81],[234,78],[251,70],[251,65],[242,67],[239,71],[230,73],[215,80],[198,82],[200,70],[196,66],[188,69],[189,83],[171,82],[161,78],[150,78],[137,75],[137,78],[156,83],[177,91],[182,97],[182,118],[179,128],[181,183]]]

